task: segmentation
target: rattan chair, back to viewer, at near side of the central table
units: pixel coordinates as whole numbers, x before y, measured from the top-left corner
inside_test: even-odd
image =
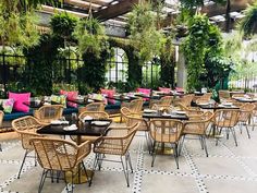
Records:
[[[179,141],[183,132],[183,122],[172,119],[152,119],[149,128],[150,136],[154,140],[151,167],[154,167],[158,146],[160,144],[162,146],[164,144],[171,144],[176,168],[179,169]]]

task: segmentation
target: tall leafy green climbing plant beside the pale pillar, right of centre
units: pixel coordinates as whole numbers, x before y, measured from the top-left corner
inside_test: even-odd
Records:
[[[203,86],[212,88],[220,80],[229,76],[234,63],[224,57],[221,32],[209,23],[207,16],[193,17],[183,47],[191,92]]]

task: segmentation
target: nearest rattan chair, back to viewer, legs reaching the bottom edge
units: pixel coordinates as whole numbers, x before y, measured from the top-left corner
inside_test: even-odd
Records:
[[[57,178],[59,180],[61,172],[72,173],[71,192],[73,192],[73,178],[78,174],[74,172],[75,168],[81,170],[81,167],[83,167],[87,176],[83,159],[90,153],[90,142],[85,142],[78,146],[75,143],[60,138],[34,137],[29,142],[34,146],[38,162],[44,169],[38,193],[41,192],[46,178],[52,180]],[[54,171],[57,171],[57,177],[53,176]],[[69,192],[68,184],[66,192]]]

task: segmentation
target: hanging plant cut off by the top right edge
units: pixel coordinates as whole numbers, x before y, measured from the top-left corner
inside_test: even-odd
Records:
[[[253,36],[257,34],[257,2],[253,5],[249,5],[244,11],[245,17],[240,22],[240,31],[244,36]]]

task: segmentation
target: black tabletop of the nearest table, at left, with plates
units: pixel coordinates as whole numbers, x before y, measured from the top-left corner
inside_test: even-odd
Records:
[[[94,121],[108,121],[107,125],[96,125]],[[68,126],[65,124],[49,124],[39,130],[37,133],[39,134],[58,134],[58,135],[91,135],[91,136],[100,136],[105,135],[107,129],[111,124],[111,120],[94,120],[86,121],[79,129],[75,131],[65,131],[64,128]]]

